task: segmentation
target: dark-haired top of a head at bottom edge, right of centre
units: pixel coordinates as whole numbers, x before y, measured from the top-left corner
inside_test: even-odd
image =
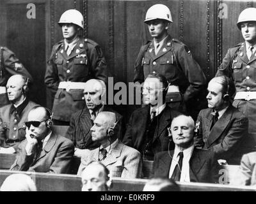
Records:
[[[143,191],[180,191],[180,188],[172,179],[156,177],[148,180]]]

